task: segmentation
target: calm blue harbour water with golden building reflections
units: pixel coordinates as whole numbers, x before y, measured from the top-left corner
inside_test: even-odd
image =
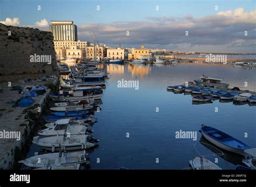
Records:
[[[110,78],[100,105],[95,112],[98,123],[93,136],[99,147],[90,154],[91,169],[184,169],[193,159],[194,144],[199,142],[200,125],[218,128],[256,147],[256,106],[213,103],[194,105],[191,95],[174,94],[169,85],[183,84],[205,74],[225,77],[230,87],[256,91],[256,71],[253,68],[223,64],[178,63],[108,64]],[[118,81],[139,81],[139,89],[118,88]],[[247,87],[245,87],[247,82]],[[216,112],[216,107],[218,111]],[[159,110],[157,112],[157,110]],[[177,131],[195,131],[197,140],[177,139]],[[129,134],[127,134],[129,133]],[[245,133],[248,133],[245,138]],[[129,136],[129,138],[128,138]],[[36,147],[31,147],[31,153]],[[201,154],[205,147],[200,146]],[[208,152],[208,154],[211,153]],[[198,155],[197,155],[198,156]],[[242,157],[227,154],[228,167],[242,164]],[[159,160],[159,163],[156,160]],[[208,158],[214,161],[215,157]],[[227,169],[223,159],[218,166]]]

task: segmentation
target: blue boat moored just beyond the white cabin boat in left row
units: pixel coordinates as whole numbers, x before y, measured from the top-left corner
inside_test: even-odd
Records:
[[[43,117],[43,119],[47,122],[47,123],[54,123],[55,121],[59,120],[59,119],[70,119],[70,120],[75,120],[75,121],[92,121],[93,116],[86,116],[85,114],[83,115],[79,115],[79,116],[75,116],[75,117],[70,117],[70,116],[45,116]]]

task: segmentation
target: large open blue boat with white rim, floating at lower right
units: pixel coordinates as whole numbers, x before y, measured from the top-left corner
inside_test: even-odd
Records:
[[[245,155],[244,150],[251,149],[251,146],[246,145],[246,143],[210,126],[201,125],[199,132],[206,140],[229,152]]]

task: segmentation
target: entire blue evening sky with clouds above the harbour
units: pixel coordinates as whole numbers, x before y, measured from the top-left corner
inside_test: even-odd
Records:
[[[0,0],[0,23],[49,31],[51,20],[113,47],[256,53],[255,0]]]

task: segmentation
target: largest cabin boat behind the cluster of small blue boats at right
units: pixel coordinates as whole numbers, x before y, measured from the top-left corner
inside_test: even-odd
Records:
[[[208,87],[214,86],[219,88],[228,88],[227,83],[221,83],[221,78],[212,78],[205,75],[199,77],[199,80],[194,80],[197,85],[207,85]]]

